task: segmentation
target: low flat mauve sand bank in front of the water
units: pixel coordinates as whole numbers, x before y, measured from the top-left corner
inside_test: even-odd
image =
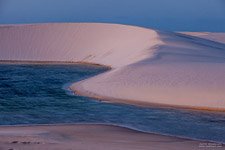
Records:
[[[208,146],[208,148],[207,148]],[[1,150],[198,150],[224,145],[107,125],[0,127]]]

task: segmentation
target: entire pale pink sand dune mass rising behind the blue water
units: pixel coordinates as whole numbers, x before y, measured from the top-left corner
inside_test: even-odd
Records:
[[[0,59],[107,65],[110,71],[71,89],[119,102],[225,110],[224,39],[208,35],[96,23],[2,26]]]

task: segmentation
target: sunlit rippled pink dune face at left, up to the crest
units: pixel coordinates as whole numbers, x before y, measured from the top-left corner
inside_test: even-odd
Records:
[[[124,25],[63,23],[2,26],[0,59],[83,61],[118,67],[148,57],[146,52],[158,42],[155,31]],[[140,53],[140,49],[146,52]]]

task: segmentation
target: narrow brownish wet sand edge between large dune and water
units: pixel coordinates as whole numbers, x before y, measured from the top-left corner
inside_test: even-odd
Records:
[[[0,65],[6,64],[6,65],[87,65],[90,67],[103,67],[107,70],[105,72],[108,72],[112,70],[111,66],[108,65],[102,65],[97,63],[91,63],[91,62],[85,62],[85,61],[20,61],[20,60],[0,60]],[[103,72],[103,73],[105,73]],[[100,73],[102,74],[102,73]],[[100,75],[98,74],[98,75]],[[95,77],[95,76],[92,76]],[[90,77],[90,78],[92,78]],[[87,78],[89,79],[89,78]],[[86,80],[86,79],[85,79]],[[82,81],[82,80],[81,80]],[[79,81],[79,82],[81,82]],[[191,110],[191,111],[201,111],[201,112],[214,112],[214,113],[223,113],[225,112],[225,109],[223,108],[210,108],[210,107],[194,107],[194,106],[182,106],[182,105],[169,105],[169,104],[160,104],[160,103],[151,103],[151,102],[144,102],[144,101],[138,101],[138,100],[131,100],[131,99],[118,99],[113,97],[106,97],[101,96],[96,93],[86,91],[85,89],[81,88],[79,86],[78,88],[71,88],[73,84],[76,84],[77,82],[68,83],[67,88],[65,90],[70,91],[71,93],[79,96],[94,98],[98,101],[105,102],[105,103],[116,103],[116,104],[128,104],[133,106],[139,106],[144,108],[168,108],[168,109],[181,109],[181,110]]]

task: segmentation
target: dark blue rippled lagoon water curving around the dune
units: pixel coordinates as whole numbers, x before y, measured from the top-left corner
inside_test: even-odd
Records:
[[[102,103],[65,90],[68,83],[106,70],[85,65],[0,65],[0,125],[106,123],[225,142],[225,113]]]

